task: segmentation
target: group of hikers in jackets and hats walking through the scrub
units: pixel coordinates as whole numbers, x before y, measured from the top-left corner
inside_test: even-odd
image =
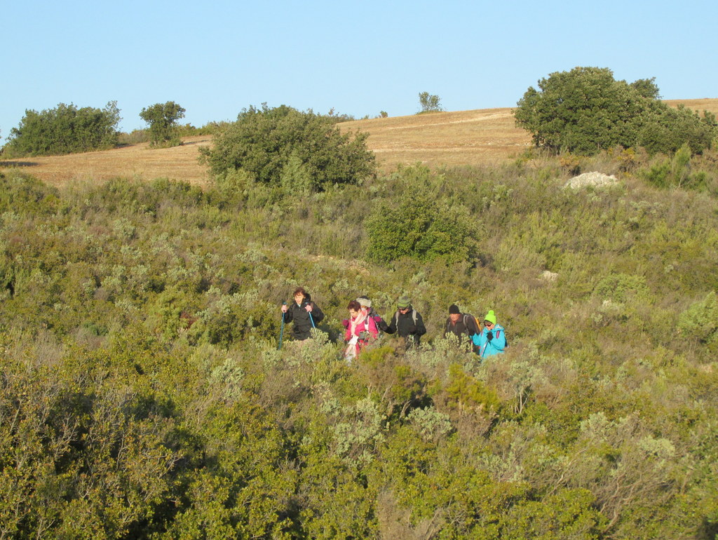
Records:
[[[419,345],[421,336],[426,334],[424,320],[411,305],[409,297],[398,299],[396,312],[388,324],[372,307],[371,300],[367,297],[352,300],[347,309],[349,316],[342,320],[342,325],[345,329],[346,344],[344,358],[349,361],[356,358],[365,345],[376,341],[382,332],[398,335],[399,348],[404,350]],[[317,323],[324,319],[322,310],[312,302],[312,297],[302,287],[294,291],[294,302],[282,304],[281,314],[282,330],[279,348],[281,348],[284,323],[294,322],[292,337],[302,342],[311,337],[312,327],[316,327]],[[457,336],[460,343],[467,343],[465,340],[472,343],[475,352],[481,358],[503,353],[507,345],[504,329],[496,322],[493,310],[485,315],[483,325],[480,325],[476,317],[462,313],[456,304],[452,304],[449,306],[449,317],[443,337],[450,334]]]

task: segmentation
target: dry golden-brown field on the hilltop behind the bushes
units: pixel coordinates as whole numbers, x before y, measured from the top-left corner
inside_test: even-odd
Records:
[[[696,111],[718,115],[718,98],[671,100]],[[492,165],[515,159],[531,146],[531,137],[514,125],[511,108],[477,109],[370,118],[339,124],[342,130],[364,131],[367,144],[384,172],[398,164],[429,167]],[[182,146],[153,149],[133,144],[102,152],[66,156],[28,157],[0,161],[0,170],[19,168],[52,185],[98,182],[118,177],[138,180],[169,178],[207,185],[208,170],[198,161],[200,146],[210,136],[183,139]]]

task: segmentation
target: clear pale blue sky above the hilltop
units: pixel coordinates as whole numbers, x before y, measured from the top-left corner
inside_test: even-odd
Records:
[[[183,123],[282,104],[361,118],[515,106],[554,71],[656,78],[666,99],[718,97],[716,0],[2,2],[0,137],[26,109],[117,101],[122,131],[176,101]]]

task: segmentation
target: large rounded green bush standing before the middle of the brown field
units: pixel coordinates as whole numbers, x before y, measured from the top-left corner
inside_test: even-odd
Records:
[[[203,157],[215,175],[243,169],[257,182],[297,192],[355,184],[374,172],[367,134],[342,134],[335,118],[288,106],[250,107],[215,137]]]

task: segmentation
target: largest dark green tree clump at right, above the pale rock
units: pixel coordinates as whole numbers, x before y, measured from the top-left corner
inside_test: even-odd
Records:
[[[689,144],[698,153],[718,134],[713,115],[701,118],[659,101],[653,79],[628,84],[607,68],[574,67],[542,78],[538,88],[526,90],[514,116],[536,146],[552,152],[644,146],[651,153],[672,153]]]

